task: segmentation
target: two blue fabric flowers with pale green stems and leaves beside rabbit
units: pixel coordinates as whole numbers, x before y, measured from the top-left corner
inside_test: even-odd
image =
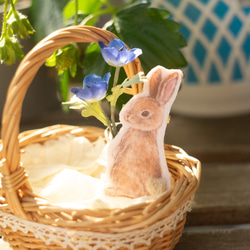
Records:
[[[142,54],[142,50],[128,50],[126,45],[118,39],[113,39],[108,46],[99,42],[99,46],[104,60],[109,65],[116,67],[112,94],[106,96],[111,77],[110,72],[106,73],[103,78],[96,74],[91,74],[84,78],[83,88],[78,87],[71,89],[71,92],[75,94],[75,96],[68,104],[71,104],[71,108],[73,109],[83,109],[82,116],[84,117],[95,116],[108,127],[112,137],[115,137],[117,134],[117,124],[115,122],[116,102],[127,87],[131,84],[140,83],[143,80],[138,74],[134,76],[134,78],[130,80],[126,79],[122,84],[118,85],[120,68],[135,60]],[[100,105],[105,97],[110,104],[111,118],[107,116]]]

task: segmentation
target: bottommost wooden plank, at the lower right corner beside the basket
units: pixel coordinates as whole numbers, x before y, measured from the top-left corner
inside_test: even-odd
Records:
[[[174,250],[249,250],[250,225],[185,228]]]

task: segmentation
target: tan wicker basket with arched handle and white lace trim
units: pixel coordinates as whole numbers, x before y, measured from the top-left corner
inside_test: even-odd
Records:
[[[54,125],[19,134],[22,102],[36,72],[58,48],[71,42],[103,42],[116,36],[88,26],[58,30],[20,63],[11,82],[2,118],[0,169],[0,235],[13,249],[173,249],[182,234],[186,213],[199,186],[200,162],[182,149],[165,145],[173,185],[156,200],[119,209],[69,209],[51,204],[32,191],[25,166],[24,146],[70,133],[94,141],[103,130]],[[125,67],[128,77],[141,71],[139,60]],[[136,94],[141,86],[128,92]]]

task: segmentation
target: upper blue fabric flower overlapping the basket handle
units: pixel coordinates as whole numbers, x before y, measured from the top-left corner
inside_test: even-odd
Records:
[[[141,49],[128,50],[126,45],[119,39],[111,40],[108,46],[99,42],[99,46],[106,63],[115,67],[127,65],[142,54]]]

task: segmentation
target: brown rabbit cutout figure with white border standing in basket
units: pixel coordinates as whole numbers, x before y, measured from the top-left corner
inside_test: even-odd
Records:
[[[170,188],[164,134],[182,80],[180,70],[157,66],[143,91],[120,112],[122,128],[108,149],[108,196],[137,198]]]

